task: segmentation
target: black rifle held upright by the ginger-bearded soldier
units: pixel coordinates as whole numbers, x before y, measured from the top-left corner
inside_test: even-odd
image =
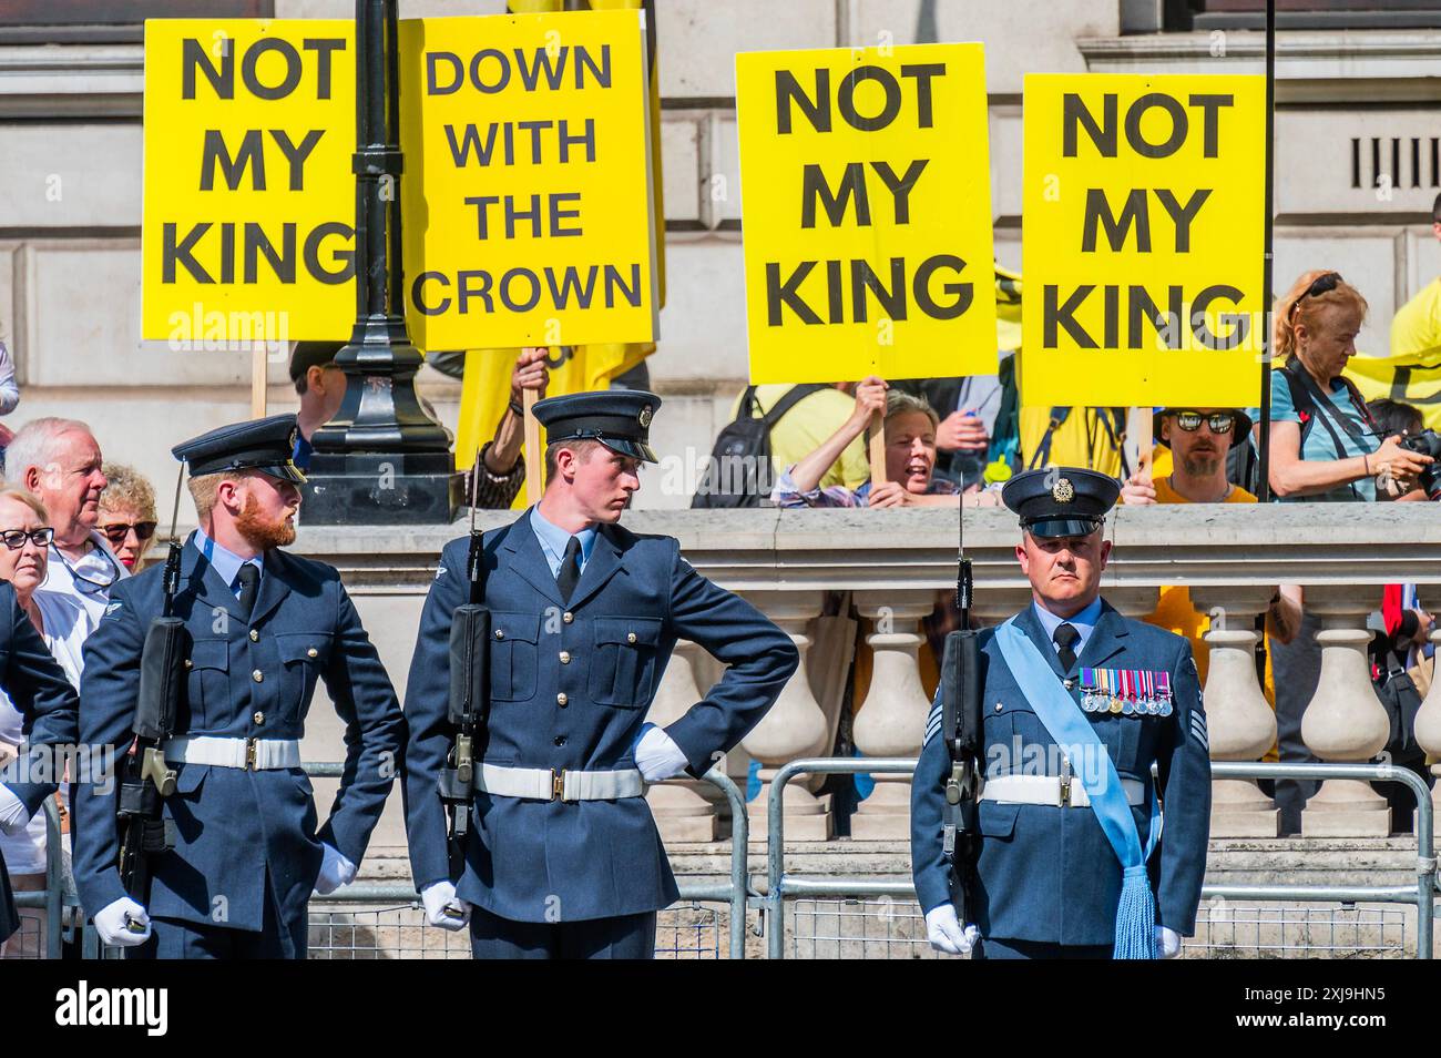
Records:
[[[176,790],[176,771],[166,763],[164,744],[174,734],[180,693],[186,683],[186,660],[190,656],[190,631],[174,615],[174,597],[180,590],[180,541],[176,526],[180,517],[180,481],[176,481],[176,506],[170,517],[170,546],[166,555],[164,608],[146,630],[146,644],[140,654],[140,695],[135,701],[135,738],[124,757],[120,783],[120,881],[130,898],[140,905],[150,901],[151,858],[169,852],[176,845],[174,822],[164,814],[164,799]],[[144,933],[138,923],[127,921],[125,928]]]

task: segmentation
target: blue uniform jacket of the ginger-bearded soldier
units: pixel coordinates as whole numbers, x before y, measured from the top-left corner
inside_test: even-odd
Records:
[[[120,581],[85,643],[81,735],[131,744],[146,630],[163,607],[161,566]],[[259,930],[267,876],[285,921],[305,914],[320,873],[321,842],[352,863],[365,856],[405,748],[405,719],[340,574],[329,565],[265,552],[249,618],[192,538],[182,554],[174,614],[192,636],[176,735],[300,739],[317,680],[346,724],[344,777],[317,832],[310,780],[300,768],[246,771],[176,765],[166,800],[174,850],[154,861],[153,917]],[[82,784],[75,799],[75,882],[89,914],[125,895],[120,882],[111,790]]]

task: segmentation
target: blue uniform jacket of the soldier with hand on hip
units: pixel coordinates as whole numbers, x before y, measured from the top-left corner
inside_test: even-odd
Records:
[[[680,558],[669,536],[601,526],[569,605],[529,513],[486,533],[491,610],[488,742],[476,757],[523,768],[635,767],[633,744],[677,639],[731,667],[666,728],[703,774],[755,726],[795,672],[791,639],[755,607]],[[450,876],[437,780],[454,732],[447,724],[450,627],[468,601],[470,541],[441,555],[421,615],[405,714],[406,826],[416,888]],[[568,659],[568,660],[562,660]],[[565,695],[561,705],[559,695]],[[512,921],[578,921],[653,911],[676,881],[644,797],[536,801],[477,793],[461,898]]]

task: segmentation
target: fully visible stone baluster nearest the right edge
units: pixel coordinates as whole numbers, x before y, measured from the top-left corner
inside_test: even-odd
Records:
[[[1301,718],[1301,738],[1323,761],[1363,764],[1386,745],[1391,722],[1370,683],[1366,615],[1379,590],[1307,585],[1306,608],[1321,618],[1321,679]],[[1306,837],[1385,837],[1386,799],[1359,778],[1329,778],[1301,813]]]

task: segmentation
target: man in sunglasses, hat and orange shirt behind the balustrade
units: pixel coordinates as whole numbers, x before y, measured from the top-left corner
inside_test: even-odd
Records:
[[[1226,455],[1232,444],[1246,443],[1251,418],[1239,408],[1161,408],[1154,414],[1153,434],[1170,453],[1170,473],[1154,481],[1137,470],[1121,489],[1127,506],[1153,503],[1255,503],[1257,497],[1226,479]],[[1206,685],[1210,650],[1206,633],[1210,617],[1192,605],[1190,588],[1163,587],[1156,610],[1143,618],[1190,640],[1200,685]],[[1280,643],[1290,643],[1301,621],[1300,590],[1277,590],[1267,610],[1265,630]],[[1267,666],[1265,696],[1275,699]]]

